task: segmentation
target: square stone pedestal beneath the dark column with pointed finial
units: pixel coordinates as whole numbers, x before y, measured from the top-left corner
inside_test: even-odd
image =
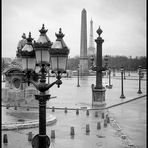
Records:
[[[92,106],[93,107],[105,107],[105,88],[96,89],[92,84]]]

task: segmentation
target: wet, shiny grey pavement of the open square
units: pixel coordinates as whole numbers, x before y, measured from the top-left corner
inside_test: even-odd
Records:
[[[50,79],[51,82],[53,80],[54,78]],[[80,87],[77,87],[77,77],[63,78],[62,81],[63,84],[60,88],[57,86],[51,88],[50,94],[57,97],[47,103],[47,107],[63,108],[62,110],[55,109],[55,112],[47,109],[47,117],[52,114],[57,118],[54,124],[47,126],[49,137],[51,130],[55,130],[55,139],[51,139],[50,148],[146,148],[146,97],[108,110],[90,110],[89,115],[86,115],[86,107],[91,109],[92,105],[91,84],[95,84],[95,77],[80,78]],[[147,94],[146,80],[141,82],[142,94],[137,94],[138,76],[136,74],[134,77],[127,77],[124,80],[124,95],[126,96],[124,100],[120,99],[119,77],[112,77],[111,83],[113,88],[106,89],[107,106]],[[103,78],[103,84],[108,84],[108,78]],[[65,107],[81,110],[78,115],[76,115],[76,110],[68,110],[65,113]],[[38,113],[38,110],[36,112]],[[106,127],[104,127],[104,119],[102,118],[103,112],[105,117],[106,115],[110,117],[110,123]],[[5,113],[3,113],[2,119],[3,122],[15,120]],[[98,122],[101,123],[101,129],[97,129]],[[86,133],[87,124],[90,128],[89,133]],[[74,136],[70,135],[72,126],[75,131]],[[2,135],[7,134],[8,136],[8,144],[2,143],[2,147],[31,148],[31,142],[28,141],[29,132],[36,135],[38,128],[2,131]]]

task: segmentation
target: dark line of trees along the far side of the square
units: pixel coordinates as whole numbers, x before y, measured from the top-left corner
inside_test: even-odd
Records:
[[[73,58],[68,59],[67,69],[69,70],[77,70],[79,64],[79,56],[75,56]],[[95,61],[94,57],[94,61]],[[108,56],[108,67],[115,68],[116,70],[120,70],[121,66],[124,67],[125,70],[136,71],[139,66],[143,69],[147,67],[147,58],[145,56],[132,58],[126,56]],[[105,64],[104,57],[102,58],[102,64]],[[88,66],[91,67],[91,60],[88,57]]]

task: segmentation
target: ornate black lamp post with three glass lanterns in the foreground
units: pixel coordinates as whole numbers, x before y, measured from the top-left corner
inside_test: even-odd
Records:
[[[67,58],[69,49],[63,41],[64,34],[59,30],[55,34],[57,39],[51,43],[46,35],[44,24],[39,30],[40,37],[37,42],[32,43],[31,33],[27,38],[27,43],[21,52],[22,65],[24,69],[25,82],[33,84],[40,94],[35,95],[35,99],[39,101],[39,134],[32,140],[33,148],[47,148],[50,146],[50,139],[46,135],[46,102],[50,99],[50,94],[46,91],[53,85],[58,87],[62,84],[61,75],[66,71]],[[52,73],[56,75],[56,81],[51,84],[46,83],[48,68],[51,67]],[[36,73],[36,68],[40,68]],[[38,82],[33,77],[38,78]]]

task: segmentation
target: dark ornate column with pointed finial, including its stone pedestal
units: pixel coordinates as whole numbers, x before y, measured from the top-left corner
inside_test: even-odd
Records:
[[[92,61],[92,70],[96,71],[96,85],[92,84],[92,106],[101,107],[106,105],[105,103],[105,87],[102,85],[102,71],[106,70],[106,67],[102,67],[102,43],[104,40],[100,37],[103,31],[100,29],[97,30],[99,37],[95,40],[97,43],[96,51],[96,66],[93,65],[94,58],[91,57]]]

